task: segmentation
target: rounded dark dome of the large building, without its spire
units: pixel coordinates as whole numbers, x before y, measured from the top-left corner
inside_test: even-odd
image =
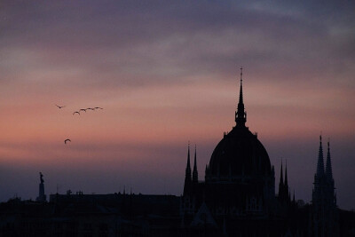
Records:
[[[218,143],[209,161],[212,177],[270,176],[271,164],[264,146],[245,126],[235,126]]]

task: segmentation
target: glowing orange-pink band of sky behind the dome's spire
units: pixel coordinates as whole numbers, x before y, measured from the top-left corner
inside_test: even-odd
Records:
[[[320,130],[335,135],[349,133],[349,126],[355,127],[351,114],[347,116],[348,121],[344,121],[345,118],[342,118],[343,122],[339,120],[337,114],[346,113],[342,107],[336,107],[334,113],[323,106],[336,103],[334,99],[327,99],[327,95],[334,91],[323,91],[317,94],[317,98],[307,98],[305,95],[312,96],[312,91],[306,91],[300,97],[298,88],[280,91],[274,87],[265,91],[265,87],[263,83],[244,83],[247,125],[263,138],[281,139],[285,134],[310,138]],[[238,92],[238,84],[233,81],[225,85],[209,81],[175,87],[154,86],[126,91],[124,97],[117,96],[107,100],[108,103],[92,105],[104,107],[103,110],[88,110],[82,115],[72,113],[90,105],[65,104],[67,107],[59,109],[54,104],[61,103],[54,101],[50,92],[45,101],[35,98],[21,104],[12,100],[2,106],[7,111],[0,118],[4,136],[1,140],[7,150],[2,154],[10,155],[11,149],[6,148],[6,144],[60,147],[65,138],[73,140],[70,146],[168,145],[184,144],[188,139],[203,143],[220,138],[224,131],[232,129]],[[339,99],[338,103],[344,102],[343,98]],[[319,115],[324,120],[319,121]]]

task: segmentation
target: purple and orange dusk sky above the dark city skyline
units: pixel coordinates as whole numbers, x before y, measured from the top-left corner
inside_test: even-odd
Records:
[[[330,139],[337,203],[355,209],[354,1],[0,3],[0,201],[45,193],[175,194],[247,126],[296,199]],[[55,105],[65,106],[61,109]],[[73,115],[80,108],[103,107]],[[67,145],[64,140],[70,138]]]

